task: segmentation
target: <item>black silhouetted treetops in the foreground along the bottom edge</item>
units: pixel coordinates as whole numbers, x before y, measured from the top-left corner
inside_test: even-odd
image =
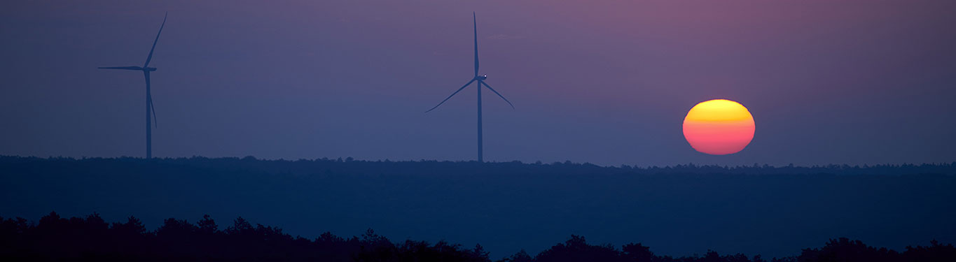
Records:
[[[220,230],[208,215],[195,224],[168,218],[155,231],[146,231],[136,217],[106,223],[97,213],[86,218],[63,218],[55,212],[34,225],[24,218],[0,218],[0,259],[4,261],[335,261],[335,262],[490,262],[481,245],[464,248],[439,241],[405,240],[395,243],[368,230],[361,237],[331,232],[304,238],[279,228],[252,226],[242,217]],[[517,252],[499,262],[929,262],[956,261],[956,247],[932,241],[929,246],[906,247],[903,252],[874,248],[847,238],[831,239],[823,247],[803,249],[797,256],[765,259],[743,253],[671,257],[649,247],[625,244],[589,244],[572,235],[534,256]]]

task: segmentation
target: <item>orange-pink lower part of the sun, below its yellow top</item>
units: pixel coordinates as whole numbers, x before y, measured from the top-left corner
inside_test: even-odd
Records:
[[[744,150],[753,139],[752,119],[738,121],[684,121],[684,138],[696,151],[730,154]]]

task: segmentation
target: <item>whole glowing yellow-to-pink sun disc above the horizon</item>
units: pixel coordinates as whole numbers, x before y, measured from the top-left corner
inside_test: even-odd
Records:
[[[701,102],[684,117],[684,138],[696,151],[730,154],[744,150],[753,139],[753,115],[727,99]]]

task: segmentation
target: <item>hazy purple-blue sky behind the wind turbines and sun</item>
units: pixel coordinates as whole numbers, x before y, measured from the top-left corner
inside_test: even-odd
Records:
[[[485,159],[599,165],[956,160],[953,1],[4,1],[0,154]],[[740,102],[735,154],[684,115]]]

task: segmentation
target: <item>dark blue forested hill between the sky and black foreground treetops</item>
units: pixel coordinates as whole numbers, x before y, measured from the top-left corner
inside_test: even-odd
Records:
[[[148,228],[242,215],[292,232],[480,243],[493,257],[557,239],[662,255],[797,255],[837,237],[903,251],[956,242],[956,165],[814,168],[0,157],[0,215],[98,212]]]

